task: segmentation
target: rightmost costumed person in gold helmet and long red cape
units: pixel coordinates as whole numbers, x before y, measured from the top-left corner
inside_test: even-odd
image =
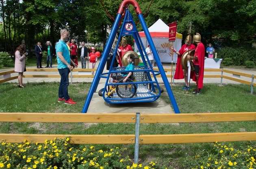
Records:
[[[196,35],[193,36],[193,42],[197,45],[195,54],[194,56],[187,57],[188,59],[193,59],[195,72],[191,73],[191,78],[196,82],[196,88],[193,90],[193,94],[198,95],[203,88],[205,48],[204,44],[201,42],[201,35],[199,33],[196,33]]]

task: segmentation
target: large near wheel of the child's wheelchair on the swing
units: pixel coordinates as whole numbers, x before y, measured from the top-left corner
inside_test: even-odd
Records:
[[[123,83],[123,80],[124,78],[120,79],[118,83]],[[126,82],[134,83],[134,81],[131,79],[127,79]],[[132,98],[137,92],[137,87],[135,84],[117,85],[116,88],[117,95],[121,98]]]

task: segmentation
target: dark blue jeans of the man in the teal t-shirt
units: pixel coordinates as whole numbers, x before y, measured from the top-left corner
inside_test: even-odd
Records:
[[[59,86],[59,98],[63,98],[67,101],[69,99],[67,86],[69,85],[68,75],[69,75],[69,68],[61,68],[59,69],[59,74],[61,75],[61,82]]]

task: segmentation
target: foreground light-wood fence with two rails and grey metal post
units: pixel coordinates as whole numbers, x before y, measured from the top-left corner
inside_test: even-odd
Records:
[[[135,163],[137,163],[139,158],[139,144],[202,143],[215,141],[256,140],[256,132],[139,135],[140,124],[255,120],[256,112],[141,115],[140,113],[0,113],[0,122],[135,123],[135,135],[43,135],[0,133],[0,140],[5,140],[10,143],[18,143],[26,139],[29,142],[44,143],[46,139],[71,137],[70,143],[74,144],[135,144]]]

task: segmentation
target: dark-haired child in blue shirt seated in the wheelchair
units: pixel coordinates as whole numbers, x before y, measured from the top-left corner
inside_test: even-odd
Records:
[[[110,83],[113,83],[113,82],[116,82],[116,81],[119,81],[120,79],[124,78],[123,79],[123,83],[126,82],[127,79],[131,79],[132,80],[132,75],[133,73],[132,72],[129,72],[129,71],[132,71],[134,70],[134,59],[135,59],[135,56],[134,54],[130,53],[128,55],[128,58],[127,58],[127,62],[129,63],[126,68],[125,68],[125,71],[128,71],[128,72],[122,72],[121,76],[117,75],[117,74],[111,74],[110,78],[109,78],[109,82]]]

